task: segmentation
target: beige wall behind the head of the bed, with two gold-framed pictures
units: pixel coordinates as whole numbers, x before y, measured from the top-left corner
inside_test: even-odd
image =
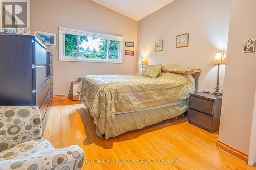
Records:
[[[216,51],[227,48],[230,6],[231,0],[176,0],[148,15],[138,24],[138,58],[202,69],[199,90],[214,91],[217,66],[209,63]],[[183,33],[189,33],[189,46],[176,48],[176,35]],[[164,40],[164,50],[155,52],[154,41],[159,39]],[[224,71],[221,66],[221,88]]]

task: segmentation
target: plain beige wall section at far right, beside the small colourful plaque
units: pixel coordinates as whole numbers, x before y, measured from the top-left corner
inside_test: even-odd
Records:
[[[256,54],[243,53],[243,42],[256,39],[256,1],[233,0],[228,36],[219,140],[249,151],[256,88]]]

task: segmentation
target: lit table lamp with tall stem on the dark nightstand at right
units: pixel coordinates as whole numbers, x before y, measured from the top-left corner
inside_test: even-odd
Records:
[[[218,75],[217,75],[217,85],[215,87],[215,92],[212,93],[213,95],[222,95],[219,90],[219,74],[220,74],[220,65],[226,64],[226,52],[220,51],[216,52],[214,55],[214,59],[212,59],[211,65],[218,65]]]

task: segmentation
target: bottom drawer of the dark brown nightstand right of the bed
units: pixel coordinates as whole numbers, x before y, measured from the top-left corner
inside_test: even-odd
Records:
[[[212,116],[198,112],[193,109],[188,109],[187,119],[189,123],[199,126],[207,131],[211,131]]]

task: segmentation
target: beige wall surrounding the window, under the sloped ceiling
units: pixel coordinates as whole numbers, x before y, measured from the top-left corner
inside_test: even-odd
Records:
[[[30,28],[58,33],[58,27],[118,34],[124,41],[137,42],[137,21],[96,4],[90,0],[32,0]],[[89,74],[134,74],[136,56],[123,56],[122,64],[58,61],[57,46],[47,46],[53,54],[53,95],[71,93],[71,81]],[[136,54],[136,43],[135,48]],[[124,49],[125,50],[125,47]]]

